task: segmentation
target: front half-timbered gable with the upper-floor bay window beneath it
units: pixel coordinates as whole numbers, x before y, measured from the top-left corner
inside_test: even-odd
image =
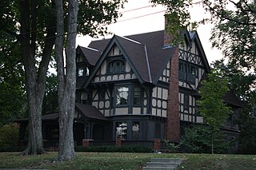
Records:
[[[97,42],[91,43],[91,46],[97,48]],[[110,39],[105,49],[101,49],[102,57],[83,86],[91,93],[91,105],[106,117],[148,112],[145,88],[140,83],[147,81],[148,71],[136,68],[138,61],[133,60],[133,56],[146,57],[146,54],[134,53],[130,46],[137,48],[138,52],[145,52],[144,45],[129,38],[114,36]]]

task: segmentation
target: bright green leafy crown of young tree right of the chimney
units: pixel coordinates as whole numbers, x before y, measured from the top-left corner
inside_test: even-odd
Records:
[[[199,113],[214,130],[223,125],[232,113],[230,107],[222,99],[229,90],[227,85],[226,77],[219,77],[218,73],[213,70],[208,75],[208,79],[202,81],[202,87],[199,89],[201,95],[198,101]]]

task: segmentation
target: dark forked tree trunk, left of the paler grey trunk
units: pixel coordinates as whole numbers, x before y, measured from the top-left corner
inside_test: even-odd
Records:
[[[29,139],[27,148],[22,155],[35,155],[44,153],[42,145],[42,101],[46,89],[46,72],[50,62],[50,54],[54,46],[54,29],[47,30],[50,37],[45,42],[38,72],[35,66],[36,57],[36,25],[37,16],[35,2],[23,0],[20,2],[21,9],[21,34],[18,41],[22,46],[22,61],[26,73],[26,95],[29,109]],[[31,10],[31,11],[30,11]],[[30,18],[32,21],[30,22]]]

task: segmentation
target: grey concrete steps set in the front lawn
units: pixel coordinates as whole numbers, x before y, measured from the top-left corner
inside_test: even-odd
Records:
[[[142,170],[174,170],[182,164],[182,159],[173,158],[151,158]]]

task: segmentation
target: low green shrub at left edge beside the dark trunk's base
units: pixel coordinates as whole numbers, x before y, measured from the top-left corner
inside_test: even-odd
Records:
[[[10,147],[18,144],[18,124],[8,124],[0,127],[0,146]]]

